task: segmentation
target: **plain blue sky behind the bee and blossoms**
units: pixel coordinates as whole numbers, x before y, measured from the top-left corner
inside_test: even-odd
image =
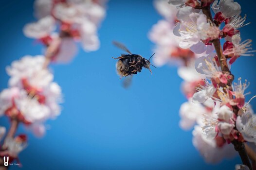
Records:
[[[36,21],[34,0],[3,0],[0,5],[0,90],[7,87],[5,67],[26,54],[42,53],[42,46],[26,38],[23,26]],[[241,37],[253,39],[256,49],[256,2],[237,0],[249,26]],[[191,131],[179,127],[179,108],[186,101],[180,90],[182,79],[175,67],[152,68],[133,77],[124,89],[115,71],[122,51],[112,40],[126,44],[133,53],[148,58],[154,44],[147,34],[162,17],[151,0],[110,0],[107,17],[99,29],[101,48],[80,50],[69,65],[51,65],[55,81],[64,93],[61,115],[47,122],[43,138],[28,133],[29,145],[19,154],[24,170],[234,170],[240,158],[217,165],[204,163],[192,144]],[[249,100],[256,94],[256,57],[240,57],[232,72],[251,85]],[[251,102],[256,109],[256,100]],[[9,127],[8,119],[0,125]],[[19,170],[11,166],[10,170]]]

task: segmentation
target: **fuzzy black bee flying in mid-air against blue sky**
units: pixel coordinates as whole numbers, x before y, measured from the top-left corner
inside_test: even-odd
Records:
[[[152,71],[150,69],[150,65],[152,65],[150,63],[150,59],[154,54],[151,55],[149,60],[147,60],[146,58],[143,58],[138,54],[132,54],[123,44],[119,42],[113,41],[113,44],[116,47],[128,52],[128,54],[121,54],[121,56],[117,58],[112,57],[113,59],[119,59],[118,62],[116,63],[116,70],[117,70],[117,74],[121,76],[120,79],[122,77],[127,77],[129,75],[137,74],[138,72],[141,72],[143,67],[149,69],[149,71],[152,74]]]

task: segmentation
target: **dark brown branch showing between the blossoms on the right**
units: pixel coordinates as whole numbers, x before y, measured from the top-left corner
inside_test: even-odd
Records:
[[[212,17],[212,14],[211,14],[210,5],[203,6],[203,4],[202,4],[202,13],[204,15],[206,15],[207,20],[210,20],[212,23],[214,23],[213,17]],[[231,74],[231,72],[228,68],[228,65],[227,65],[226,57],[225,57],[225,55],[223,54],[223,51],[222,51],[220,40],[215,39],[215,40],[212,41],[212,43],[214,45],[216,54],[218,56],[219,64],[220,64],[220,68],[221,68],[222,72],[229,72]],[[231,84],[232,84],[232,81],[230,82],[230,90],[232,90]],[[235,114],[238,115],[238,109],[234,109],[234,112],[236,112]],[[234,145],[235,150],[238,151],[243,164],[246,165],[250,170],[252,170],[252,166],[251,166],[249,157],[248,157],[248,155],[245,151],[245,146],[244,146],[243,142],[240,142],[240,141],[234,139],[232,141],[232,144]]]

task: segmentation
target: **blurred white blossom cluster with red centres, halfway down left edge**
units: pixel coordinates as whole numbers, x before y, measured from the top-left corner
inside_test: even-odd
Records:
[[[44,132],[44,121],[60,114],[61,88],[53,82],[53,74],[43,68],[44,62],[44,56],[14,61],[7,67],[10,87],[0,93],[0,114],[31,125],[37,136]]]

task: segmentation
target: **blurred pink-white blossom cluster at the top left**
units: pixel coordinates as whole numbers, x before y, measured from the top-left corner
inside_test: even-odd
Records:
[[[70,62],[77,53],[76,42],[85,51],[96,51],[97,28],[106,15],[106,0],[36,0],[37,22],[23,32],[47,47],[46,56],[59,63]]]

